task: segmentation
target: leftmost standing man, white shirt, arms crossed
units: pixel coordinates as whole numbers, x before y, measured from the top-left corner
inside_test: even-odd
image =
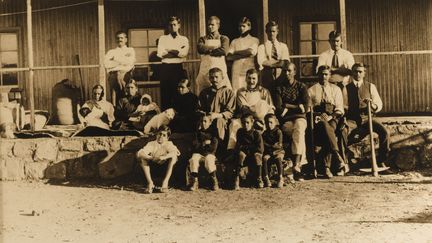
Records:
[[[108,83],[111,102],[114,106],[124,96],[124,87],[132,78],[131,71],[135,64],[135,50],[128,47],[127,34],[124,31],[116,33],[117,47],[107,52],[104,65],[108,72]]]

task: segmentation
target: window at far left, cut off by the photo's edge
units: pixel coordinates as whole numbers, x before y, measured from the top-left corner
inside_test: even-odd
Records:
[[[0,63],[2,68],[18,67],[18,33],[0,32]],[[18,86],[18,72],[0,74],[0,86]]]

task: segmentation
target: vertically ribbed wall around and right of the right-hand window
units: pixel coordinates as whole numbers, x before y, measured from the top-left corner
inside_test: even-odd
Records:
[[[299,54],[298,21],[339,18],[337,0],[270,0],[269,11],[291,54]],[[345,44],[353,53],[432,50],[430,0],[346,0],[346,19]],[[383,113],[431,111],[432,54],[355,59],[369,65],[367,79],[377,85]]]

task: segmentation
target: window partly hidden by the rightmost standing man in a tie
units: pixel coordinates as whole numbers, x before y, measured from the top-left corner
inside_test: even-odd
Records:
[[[328,50],[328,34],[336,29],[336,21],[300,22],[300,55],[321,54]],[[313,78],[318,57],[300,60],[300,77]]]

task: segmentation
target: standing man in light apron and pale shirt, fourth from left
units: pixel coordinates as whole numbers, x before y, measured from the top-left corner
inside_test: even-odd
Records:
[[[243,17],[239,21],[240,37],[231,42],[227,60],[233,61],[232,87],[234,91],[246,87],[246,71],[255,68],[255,56],[257,54],[259,40],[250,35],[251,21]]]

